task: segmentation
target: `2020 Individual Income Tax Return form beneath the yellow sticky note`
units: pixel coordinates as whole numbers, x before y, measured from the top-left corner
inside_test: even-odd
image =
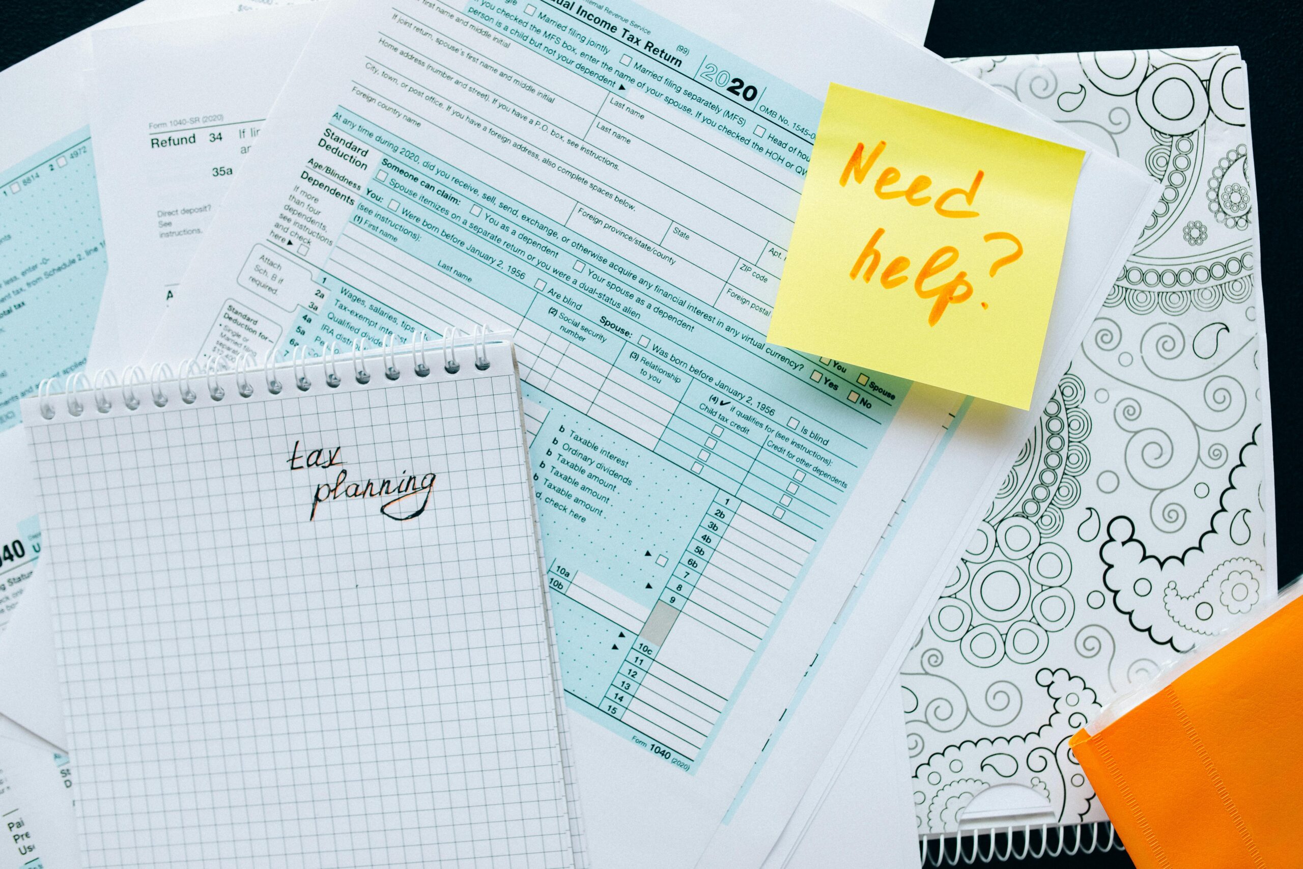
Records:
[[[764,343],[834,77],[1076,143],[817,3],[334,3],[150,348],[515,332],[594,865],[692,865],[959,401]]]

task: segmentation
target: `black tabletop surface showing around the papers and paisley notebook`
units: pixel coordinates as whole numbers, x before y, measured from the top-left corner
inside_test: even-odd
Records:
[[[745,0],[730,0],[745,3]],[[124,0],[68,0],[29,4],[0,0],[0,69],[18,63],[96,21],[132,5]],[[1303,14],[1289,0],[936,0],[926,46],[942,57],[1025,55],[1110,48],[1239,46],[1248,64],[1253,124],[1253,172],[1261,238],[1260,275],[1267,309],[1276,460],[1277,552],[1281,581],[1303,573],[1303,498],[1290,483],[1303,455],[1294,433],[1303,426],[1303,403],[1293,400],[1290,371],[1300,367],[1303,292],[1285,251],[1298,244],[1299,227],[1286,220],[1299,190],[1299,51]],[[1303,53],[1303,52],[1300,52]],[[160,70],[165,74],[165,70]],[[70,99],[74,95],[69,95]],[[8,117],[0,94],[0,124]],[[0,155],[0,164],[22,155]],[[1290,238],[1295,238],[1294,242]],[[1055,843],[1050,836],[1050,843]],[[1070,836],[1071,844],[1071,836]],[[1003,851],[1003,848],[999,848]],[[1020,848],[1019,848],[1020,849]],[[1036,848],[1033,847],[1033,851]],[[985,851],[985,847],[982,848]],[[952,853],[952,852],[951,852]],[[865,865],[872,857],[865,855]],[[964,865],[960,860],[960,865]],[[1124,853],[1010,861],[1029,869],[1106,869],[1131,866]]]

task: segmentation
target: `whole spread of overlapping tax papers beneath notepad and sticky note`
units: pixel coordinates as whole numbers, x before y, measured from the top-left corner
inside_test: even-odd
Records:
[[[846,822],[881,865],[917,861],[880,681],[1158,195],[924,50],[929,14],[149,0],[0,73],[20,120],[0,129],[0,816],[20,836],[0,869],[89,860],[18,400],[78,371],[288,370],[480,326],[512,334],[523,382],[572,865],[817,861],[779,836],[852,713],[876,784]],[[765,343],[830,82],[1087,152],[1031,413]],[[835,631],[853,672],[788,727],[840,677],[810,670]]]

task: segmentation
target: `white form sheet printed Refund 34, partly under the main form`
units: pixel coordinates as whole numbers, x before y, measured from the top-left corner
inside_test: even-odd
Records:
[[[323,8],[93,34],[90,129],[112,254],[90,370],[139,361]]]

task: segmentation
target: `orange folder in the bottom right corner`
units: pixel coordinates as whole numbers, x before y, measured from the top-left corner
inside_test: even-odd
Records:
[[[1303,594],[1070,741],[1138,869],[1303,866]]]

